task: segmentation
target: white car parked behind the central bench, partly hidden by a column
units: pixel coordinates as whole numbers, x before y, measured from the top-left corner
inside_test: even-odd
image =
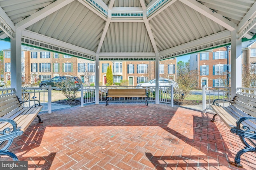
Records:
[[[170,87],[173,84],[173,87],[178,87],[178,83],[172,79],[168,78],[159,78],[159,88],[165,89],[166,87]],[[152,88],[156,86],[156,79],[149,80],[146,83],[137,84],[136,88]]]

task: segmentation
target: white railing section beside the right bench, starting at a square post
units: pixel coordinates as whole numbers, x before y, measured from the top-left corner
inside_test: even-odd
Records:
[[[202,88],[202,111],[206,112],[206,109],[212,110],[211,104],[215,99],[231,99],[231,88],[230,87],[206,87],[205,85]],[[222,101],[223,105],[229,105],[229,102]]]

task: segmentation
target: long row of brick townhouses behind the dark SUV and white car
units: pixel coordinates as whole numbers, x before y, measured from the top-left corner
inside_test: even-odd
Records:
[[[10,80],[10,49],[4,50],[4,80]],[[176,59],[159,62],[159,75],[176,79]],[[129,86],[155,78],[154,61],[101,61],[99,82],[106,84],[106,71],[112,67],[113,80],[128,80]],[[35,83],[55,76],[78,76],[89,85],[95,83],[95,62],[50,51],[22,46],[22,77],[24,82]]]

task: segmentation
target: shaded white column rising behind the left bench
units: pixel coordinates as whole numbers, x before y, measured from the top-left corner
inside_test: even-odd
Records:
[[[21,30],[16,29],[11,39],[11,88],[21,100]]]

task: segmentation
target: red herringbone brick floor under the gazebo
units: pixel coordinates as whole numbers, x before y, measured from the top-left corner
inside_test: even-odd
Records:
[[[213,114],[165,104],[104,104],[40,114],[11,147],[37,170],[235,170],[240,139]],[[244,154],[239,170],[255,170]],[[0,160],[10,160],[3,157]]]

